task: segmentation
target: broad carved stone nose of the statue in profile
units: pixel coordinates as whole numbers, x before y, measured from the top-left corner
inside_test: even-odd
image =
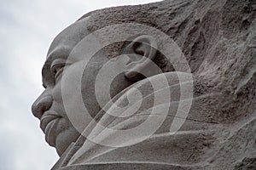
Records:
[[[32,105],[32,113],[34,116],[38,117],[38,119],[43,116],[44,111],[49,110],[53,100],[49,94],[42,95]]]

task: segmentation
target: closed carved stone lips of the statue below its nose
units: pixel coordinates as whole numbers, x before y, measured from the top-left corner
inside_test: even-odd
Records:
[[[45,134],[45,140],[50,146],[55,146],[56,127],[62,116],[53,111],[46,111],[40,119],[40,127]]]

